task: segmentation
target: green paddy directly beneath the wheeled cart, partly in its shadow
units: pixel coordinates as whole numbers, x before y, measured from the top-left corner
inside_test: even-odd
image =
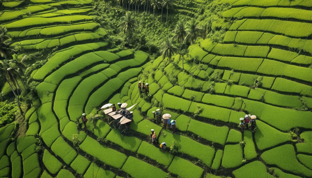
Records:
[[[121,135],[117,129],[112,129],[106,136],[106,140],[109,140],[110,142],[113,142],[131,152],[136,152],[142,143],[142,141],[136,137]]]

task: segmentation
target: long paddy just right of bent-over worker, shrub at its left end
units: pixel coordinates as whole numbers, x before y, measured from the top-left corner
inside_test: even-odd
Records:
[[[171,134],[171,132],[167,130],[163,130],[163,134],[159,136],[159,142],[166,142],[167,147],[170,147],[174,141],[177,141],[180,145],[178,152],[183,152],[189,156],[196,157],[197,159],[202,160],[205,165],[211,166],[215,153],[212,147],[203,145],[182,135]]]

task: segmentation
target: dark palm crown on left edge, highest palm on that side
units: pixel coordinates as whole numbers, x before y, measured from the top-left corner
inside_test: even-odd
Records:
[[[9,39],[11,38],[10,34],[7,34],[7,27],[0,26],[0,56],[7,60],[7,56],[12,54],[14,49],[10,48],[11,42]]]

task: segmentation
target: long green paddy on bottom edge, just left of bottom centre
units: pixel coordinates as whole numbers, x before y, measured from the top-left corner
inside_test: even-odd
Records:
[[[146,173],[153,175],[155,178],[163,178],[167,175],[167,173],[161,169],[131,156],[128,157],[124,166],[122,166],[122,170],[127,172],[133,178],[145,178]]]

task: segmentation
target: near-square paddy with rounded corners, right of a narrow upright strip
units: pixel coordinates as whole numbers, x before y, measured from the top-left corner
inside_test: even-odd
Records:
[[[240,144],[225,145],[222,158],[222,167],[234,168],[242,164],[243,150]]]

